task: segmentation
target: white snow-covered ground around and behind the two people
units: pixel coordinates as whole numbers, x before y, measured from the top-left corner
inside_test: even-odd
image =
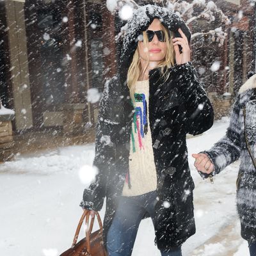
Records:
[[[198,175],[191,157],[210,148],[225,134],[227,125],[228,120],[223,119],[202,136],[188,140],[195,181],[196,234],[182,246],[184,256],[249,255],[246,241],[240,237],[235,205],[239,163],[228,166],[211,184]],[[0,165],[1,255],[56,256],[70,247],[82,214],[79,202],[86,185],[81,182],[81,172],[92,171],[93,147],[16,156],[14,161]],[[100,215],[104,216],[104,210]],[[139,255],[160,255],[150,219],[141,221],[132,253]]]

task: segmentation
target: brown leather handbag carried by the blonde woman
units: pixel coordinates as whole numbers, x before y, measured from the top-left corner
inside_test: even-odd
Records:
[[[95,215],[97,216],[100,229],[92,233],[95,216],[92,217],[89,225],[90,211],[84,210],[83,215],[81,216],[81,219],[76,228],[76,234],[71,248],[61,253],[60,256],[108,256],[102,240],[103,227],[100,220],[99,212],[95,212]],[[86,219],[86,227],[89,228],[86,228],[86,237],[76,243],[84,219]]]

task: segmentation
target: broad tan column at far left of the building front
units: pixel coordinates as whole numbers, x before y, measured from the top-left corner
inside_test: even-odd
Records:
[[[11,81],[17,130],[33,126],[31,93],[29,88],[28,50],[24,3],[5,1],[8,41],[10,49]]]

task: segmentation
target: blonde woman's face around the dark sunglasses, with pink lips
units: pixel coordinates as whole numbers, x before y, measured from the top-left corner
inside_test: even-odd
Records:
[[[161,29],[160,20],[154,19],[147,30],[159,31]],[[157,35],[154,35],[153,40],[148,42],[148,45],[141,41],[138,42],[138,52],[142,60],[161,61],[166,55],[166,42],[160,42]]]

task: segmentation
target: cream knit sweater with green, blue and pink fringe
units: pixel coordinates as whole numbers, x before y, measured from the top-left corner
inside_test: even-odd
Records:
[[[157,177],[152,138],[148,120],[148,80],[137,81],[134,93],[134,122],[132,122],[129,175],[131,189],[125,180],[123,196],[143,195],[156,190]],[[147,110],[146,110],[147,109]],[[147,124],[145,124],[147,122]],[[146,127],[146,129],[145,129]]]

